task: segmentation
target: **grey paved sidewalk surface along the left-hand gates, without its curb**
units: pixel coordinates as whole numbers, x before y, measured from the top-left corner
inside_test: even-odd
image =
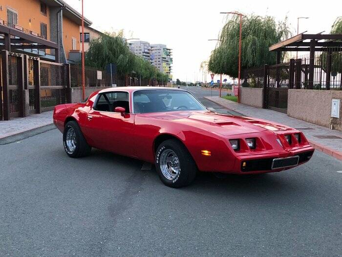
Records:
[[[52,115],[53,111],[49,111],[29,117],[2,120],[0,121],[0,139],[52,124]]]

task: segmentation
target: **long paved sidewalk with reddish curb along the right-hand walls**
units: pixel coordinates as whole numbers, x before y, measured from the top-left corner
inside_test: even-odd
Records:
[[[296,128],[304,133],[307,140],[309,140],[315,149],[342,160],[342,132],[340,131],[330,130],[326,127],[289,117],[286,114],[269,109],[259,109],[239,104],[220,98],[219,96],[205,96],[204,98],[222,107],[241,113],[244,116],[267,119]]]

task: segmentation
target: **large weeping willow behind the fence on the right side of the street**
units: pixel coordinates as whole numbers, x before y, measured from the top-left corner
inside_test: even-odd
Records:
[[[223,73],[236,78],[238,75],[240,18],[227,17],[219,34],[219,43],[212,51],[208,68],[214,73]],[[291,33],[287,19],[276,22],[271,16],[249,15],[243,17],[241,44],[241,68],[257,67],[276,63],[276,53],[268,47],[287,39]]]

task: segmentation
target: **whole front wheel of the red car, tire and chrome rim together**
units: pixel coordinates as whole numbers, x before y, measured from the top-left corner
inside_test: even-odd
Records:
[[[158,146],[155,166],[159,178],[169,187],[189,185],[197,172],[188,149],[177,140],[166,140]]]

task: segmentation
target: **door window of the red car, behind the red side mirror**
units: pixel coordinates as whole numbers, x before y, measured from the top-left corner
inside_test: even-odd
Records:
[[[93,109],[102,112],[114,112],[116,107],[123,107],[126,113],[129,113],[127,92],[101,93]]]

